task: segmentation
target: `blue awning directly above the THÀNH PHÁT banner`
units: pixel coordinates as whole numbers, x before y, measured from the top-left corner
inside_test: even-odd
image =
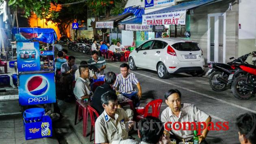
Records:
[[[184,10],[188,10],[188,9],[194,9],[198,6],[202,6],[205,4],[212,4],[215,2],[219,2],[219,1],[222,1],[222,0],[193,0],[193,1],[189,1],[189,2],[182,2],[180,4],[177,4],[174,6],[169,6],[165,9],[153,11],[151,13],[147,13],[144,15],[151,15],[151,14],[157,14],[157,13],[169,13],[169,12],[173,12],[173,11],[184,11]]]

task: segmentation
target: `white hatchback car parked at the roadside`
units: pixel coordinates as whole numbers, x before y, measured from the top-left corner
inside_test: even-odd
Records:
[[[156,38],[142,43],[129,55],[131,70],[137,67],[157,71],[165,79],[169,73],[204,72],[204,57],[197,42],[177,38]]]

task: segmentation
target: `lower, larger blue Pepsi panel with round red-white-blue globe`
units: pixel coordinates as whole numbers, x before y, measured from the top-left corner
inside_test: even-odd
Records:
[[[20,105],[56,102],[54,73],[21,74],[19,79]]]

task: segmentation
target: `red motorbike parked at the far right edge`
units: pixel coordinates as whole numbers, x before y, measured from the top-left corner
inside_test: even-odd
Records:
[[[232,67],[244,71],[239,76],[234,74],[229,76],[233,80],[231,90],[234,97],[241,100],[250,99],[256,92],[256,66],[245,63],[232,63]]]

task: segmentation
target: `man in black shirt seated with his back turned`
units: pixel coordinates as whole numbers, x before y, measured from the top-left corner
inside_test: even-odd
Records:
[[[111,88],[111,86],[113,86],[113,84],[115,83],[115,80],[116,80],[115,73],[113,73],[112,71],[106,73],[104,78],[105,83],[101,86],[98,86],[93,93],[91,106],[94,107],[99,114],[102,114],[102,112],[104,111],[104,107],[102,106],[102,103],[101,103],[101,96],[108,91],[115,92],[115,90]],[[122,108],[121,105],[118,105],[118,108]],[[132,120],[133,111],[128,108],[128,109],[125,109],[125,112],[127,113],[127,116],[129,117],[129,119]]]

